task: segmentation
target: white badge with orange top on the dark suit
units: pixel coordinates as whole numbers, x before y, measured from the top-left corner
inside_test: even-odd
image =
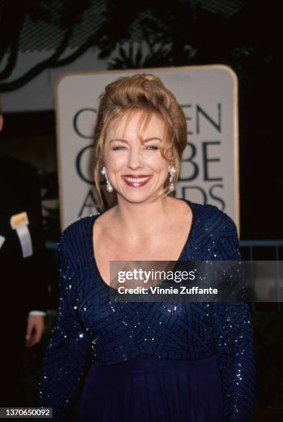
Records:
[[[31,257],[32,239],[30,237],[30,230],[28,230],[28,214],[26,212],[20,212],[19,214],[12,215],[10,225],[13,230],[16,230],[19,237],[23,258]]]

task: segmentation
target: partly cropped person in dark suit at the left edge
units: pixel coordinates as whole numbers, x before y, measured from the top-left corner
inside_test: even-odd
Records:
[[[25,346],[39,343],[44,329],[44,241],[37,179],[35,168],[0,154],[0,407],[23,405],[23,352]]]

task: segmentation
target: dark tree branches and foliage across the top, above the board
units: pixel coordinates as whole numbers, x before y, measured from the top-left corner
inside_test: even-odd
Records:
[[[96,0],[96,3],[104,3],[105,9],[99,28],[68,52],[78,24],[84,21],[95,0],[2,0],[0,92],[17,90],[44,70],[72,63],[90,48],[97,49],[100,59],[108,59],[111,69],[226,63],[238,76],[247,77],[255,70],[264,72],[274,64],[277,37],[272,28],[264,35],[262,32],[274,11],[255,0],[244,2],[242,10],[229,17],[190,0],[168,3],[163,0]],[[255,11],[257,19],[254,19]],[[26,19],[59,28],[61,38],[48,58],[11,80]],[[137,28],[142,40],[133,48]],[[126,47],[126,43],[130,46]],[[115,57],[110,57],[117,49]]]

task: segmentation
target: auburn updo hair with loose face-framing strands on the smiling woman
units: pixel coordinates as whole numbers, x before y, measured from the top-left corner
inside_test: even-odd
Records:
[[[177,103],[175,95],[165,88],[162,81],[153,74],[146,73],[120,77],[106,86],[105,92],[100,95],[99,100],[94,134],[95,186],[100,201],[97,205],[103,206],[100,171],[104,166],[106,131],[110,121],[120,119],[125,114],[128,121],[134,113],[140,113],[139,132],[146,128],[153,113],[159,119],[162,119],[165,130],[163,143],[160,145],[160,153],[170,165],[175,165],[176,172],[172,182],[177,183],[182,153],[187,144],[186,117],[181,106]],[[160,197],[166,197],[169,193],[168,174]],[[115,192],[112,194],[115,194]]]

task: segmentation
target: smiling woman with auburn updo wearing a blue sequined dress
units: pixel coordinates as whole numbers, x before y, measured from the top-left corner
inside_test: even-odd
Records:
[[[224,212],[168,196],[186,136],[182,109],[157,77],[106,86],[95,181],[100,192],[101,172],[117,205],[61,235],[60,306],[39,388],[39,405],[59,421],[81,381],[80,422],[251,420],[253,330],[244,303],[109,300],[110,261],[240,259]]]

